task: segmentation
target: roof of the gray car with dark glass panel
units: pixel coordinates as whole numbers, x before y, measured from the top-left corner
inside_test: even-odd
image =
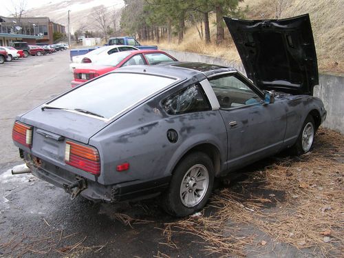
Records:
[[[169,62],[160,63],[154,66],[126,66],[114,70],[114,72],[147,72],[155,75],[169,77],[208,77],[222,72],[237,72],[235,68],[229,66],[217,66],[208,63],[197,62]]]

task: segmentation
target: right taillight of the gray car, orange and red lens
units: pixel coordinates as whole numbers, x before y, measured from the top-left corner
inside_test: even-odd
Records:
[[[65,163],[94,175],[100,174],[99,153],[96,148],[91,146],[81,145],[74,141],[66,141]]]

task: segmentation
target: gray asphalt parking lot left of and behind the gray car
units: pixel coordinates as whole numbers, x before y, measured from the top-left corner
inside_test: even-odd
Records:
[[[0,257],[203,257],[197,237],[180,235],[178,248],[164,244],[160,228],[174,219],[156,199],[118,205],[72,201],[30,174],[11,175],[10,168],[23,163],[12,143],[15,117],[69,89],[68,65],[65,51],[0,66]],[[144,221],[136,224],[123,213]]]

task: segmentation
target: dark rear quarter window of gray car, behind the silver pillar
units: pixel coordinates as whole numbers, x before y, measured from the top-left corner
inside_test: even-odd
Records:
[[[162,101],[162,107],[169,115],[211,110],[200,83],[178,90]]]

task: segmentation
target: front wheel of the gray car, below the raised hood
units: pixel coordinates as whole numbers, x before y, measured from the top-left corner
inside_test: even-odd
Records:
[[[312,148],[314,136],[315,136],[314,119],[311,115],[308,115],[303,122],[297,142],[290,148],[292,155],[303,155],[310,151]]]

